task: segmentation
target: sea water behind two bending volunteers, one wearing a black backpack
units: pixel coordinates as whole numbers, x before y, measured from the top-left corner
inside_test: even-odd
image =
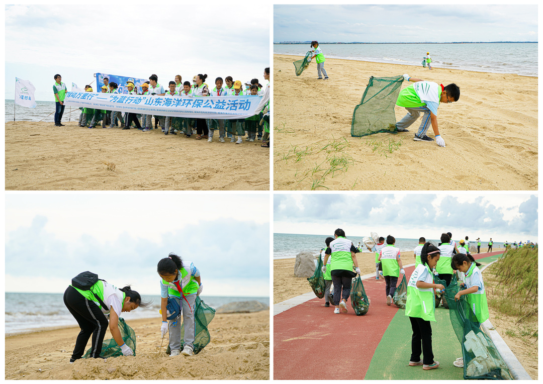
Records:
[[[5,333],[20,333],[57,326],[77,326],[77,321],[64,305],[64,293],[5,293]],[[202,294],[201,299],[207,305],[218,308],[221,305],[237,301],[257,300],[270,305],[269,297],[219,297]],[[157,319],[161,316],[158,295],[142,295],[143,300],[153,300],[149,308],[137,308],[132,312],[123,312],[121,317],[130,319]],[[160,322],[157,323],[160,328]]]

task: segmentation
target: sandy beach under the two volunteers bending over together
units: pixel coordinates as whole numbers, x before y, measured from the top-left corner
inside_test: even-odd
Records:
[[[211,342],[198,355],[169,357],[167,339],[159,352],[160,318],[127,322],[137,336],[136,356],[81,359],[70,364],[78,327],[5,337],[6,380],[268,380],[269,310],[217,313]],[[106,339],[111,334],[106,333]],[[90,348],[90,341],[87,348]],[[41,372],[39,371],[41,369]]]

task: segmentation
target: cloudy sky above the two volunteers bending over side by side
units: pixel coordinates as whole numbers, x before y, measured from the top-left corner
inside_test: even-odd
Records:
[[[269,297],[267,194],[8,194],[5,204],[7,292],[61,293],[90,270],[158,295],[156,265],[174,252],[200,269],[204,295]]]

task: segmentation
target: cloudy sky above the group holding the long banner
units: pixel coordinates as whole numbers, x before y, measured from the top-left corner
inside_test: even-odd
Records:
[[[213,86],[226,76],[264,84],[271,7],[201,4],[7,5],[5,98],[14,98],[18,77],[34,84],[36,100],[54,101],[56,73],[68,90],[94,73],[155,73],[165,87],[176,74],[192,81],[199,73]]]

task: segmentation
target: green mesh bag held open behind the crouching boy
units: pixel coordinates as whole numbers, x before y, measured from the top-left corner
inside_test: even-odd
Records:
[[[402,81],[403,76],[370,77],[360,104],[352,112],[351,136],[397,132],[394,106]]]

